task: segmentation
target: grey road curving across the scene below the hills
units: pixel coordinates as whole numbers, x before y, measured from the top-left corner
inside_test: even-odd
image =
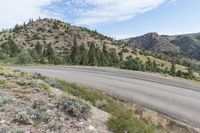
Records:
[[[93,67],[14,67],[120,96],[200,128],[200,85],[159,75]]]

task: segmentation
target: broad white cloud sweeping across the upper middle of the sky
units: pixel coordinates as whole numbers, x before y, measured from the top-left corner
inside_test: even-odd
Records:
[[[80,4],[90,4],[95,8],[80,12],[75,24],[90,25],[125,21],[137,14],[158,7],[166,0],[75,0]]]

